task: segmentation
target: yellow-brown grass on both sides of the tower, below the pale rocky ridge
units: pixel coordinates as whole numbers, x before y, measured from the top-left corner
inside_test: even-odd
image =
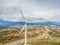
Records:
[[[28,28],[28,44],[30,45],[60,45],[60,35],[49,32],[48,39],[45,38],[45,29],[43,27]],[[44,34],[44,35],[43,35]],[[39,37],[41,36],[41,37]],[[38,38],[39,37],[39,38]],[[24,31],[19,34],[17,29],[1,29],[0,30],[0,44],[6,44],[24,39]],[[24,43],[24,41],[23,41]],[[23,45],[22,43],[22,45]]]

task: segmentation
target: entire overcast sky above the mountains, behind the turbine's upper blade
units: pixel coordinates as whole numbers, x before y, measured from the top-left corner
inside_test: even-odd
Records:
[[[22,21],[20,10],[33,22],[60,22],[60,0],[0,0],[0,20]]]

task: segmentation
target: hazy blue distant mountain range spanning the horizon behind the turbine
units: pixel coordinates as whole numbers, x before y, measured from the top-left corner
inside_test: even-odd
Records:
[[[9,27],[13,25],[24,25],[25,22],[9,22],[9,21],[0,21],[0,27]],[[56,25],[60,26],[60,22],[28,22],[28,25]]]

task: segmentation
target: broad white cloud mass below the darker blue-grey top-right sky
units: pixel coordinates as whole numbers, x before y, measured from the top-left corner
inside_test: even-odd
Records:
[[[0,7],[2,7],[1,10],[3,10],[0,19],[4,21],[20,21],[21,16],[18,8],[23,11],[25,17],[41,18],[38,19],[38,22],[60,21],[60,9],[52,8],[52,4],[50,6],[44,4],[38,5],[36,2],[30,2],[28,0],[3,0],[3,2],[0,4]],[[37,19],[34,21],[36,22]]]

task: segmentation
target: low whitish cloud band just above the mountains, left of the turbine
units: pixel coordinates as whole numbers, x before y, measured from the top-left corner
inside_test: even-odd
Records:
[[[20,15],[1,15],[0,19],[4,20],[4,21],[12,21],[12,22],[17,22],[17,21],[24,21],[22,16]]]

